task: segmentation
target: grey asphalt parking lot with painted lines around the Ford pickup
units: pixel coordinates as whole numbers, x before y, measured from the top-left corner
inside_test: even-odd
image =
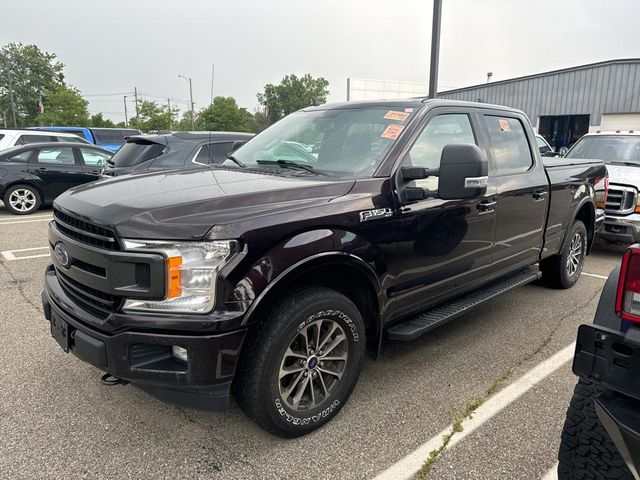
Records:
[[[65,354],[40,305],[50,218],[0,208],[2,478],[403,478],[477,398],[428,478],[553,478],[576,382],[570,345],[622,252],[597,246],[573,289],[528,285],[414,342],[386,342],[333,422],[282,440],[235,404],[224,414],[166,405],[102,386]]]

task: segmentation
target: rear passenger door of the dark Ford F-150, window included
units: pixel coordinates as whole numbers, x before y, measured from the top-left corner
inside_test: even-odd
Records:
[[[497,188],[495,271],[536,263],[542,249],[549,184],[525,116],[483,111],[490,175]]]

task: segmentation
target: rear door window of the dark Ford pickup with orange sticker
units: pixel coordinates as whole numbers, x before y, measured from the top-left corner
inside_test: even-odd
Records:
[[[496,175],[524,173],[533,165],[529,142],[520,120],[485,115]]]

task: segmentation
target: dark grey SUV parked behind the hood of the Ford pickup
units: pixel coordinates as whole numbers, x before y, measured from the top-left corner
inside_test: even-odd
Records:
[[[169,132],[127,137],[102,175],[117,177],[222,163],[253,136],[236,132]]]

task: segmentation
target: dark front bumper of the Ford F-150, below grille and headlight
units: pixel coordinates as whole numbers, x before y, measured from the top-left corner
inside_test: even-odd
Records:
[[[246,330],[214,335],[175,333],[158,330],[164,319],[155,322],[150,316],[145,328],[105,332],[63,307],[70,302],[55,275],[47,275],[42,292],[44,314],[52,324],[52,335],[66,351],[162,400],[208,410],[228,407]],[[186,364],[171,355],[174,345],[187,349]]]

